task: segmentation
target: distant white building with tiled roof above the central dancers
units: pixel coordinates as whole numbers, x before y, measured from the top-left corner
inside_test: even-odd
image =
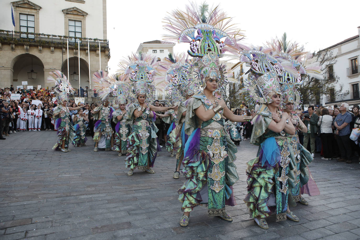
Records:
[[[175,44],[172,42],[153,40],[141,43],[136,52],[150,54],[161,60],[166,58],[169,53],[174,54],[174,46]]]

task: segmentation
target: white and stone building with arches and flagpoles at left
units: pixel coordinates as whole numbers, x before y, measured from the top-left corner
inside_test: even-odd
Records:
[[[106,0],[1,1],[0,87],[16,87],[22,81],[47,87],[49,72],[60,70],[68,75],[67,54],[72,86],[79,86],[78,56],[81,86],[89,86],[93,73],[106,69],[110,58],[106,28]]]

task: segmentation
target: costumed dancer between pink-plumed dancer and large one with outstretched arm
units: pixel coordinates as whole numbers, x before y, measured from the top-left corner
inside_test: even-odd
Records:
[[[125,109],[126,96],[129,94],[129,84],[123,82],[125,78],[119,80],[115,74],[109,76],[109,78],[114,82],[110,88],[112,89],[112,95],[115,97],[112,105],[113,108],[116,108],[112,115],[112,120],[116,124],[112,150],[118,151],[118,156],[121,156],[127,153],[126,140],[131,132],[129,124],[126,123],[127,110]]]

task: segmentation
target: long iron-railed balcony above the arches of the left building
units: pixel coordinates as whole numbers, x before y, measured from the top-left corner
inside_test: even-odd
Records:
[[[69,46],[77,46],[78,41],[80,41],[81,48],[87,48],[87,43],[89,43],[90,49],[99,49],[100,44],[101,50],[109,50],[109,41],[106,39],[77,38],[44,33],[0,30],[1,43],[64,47],[67,45],[67,40],[69,40]]]

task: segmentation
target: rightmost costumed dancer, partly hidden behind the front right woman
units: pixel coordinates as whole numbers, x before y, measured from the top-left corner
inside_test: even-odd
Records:
[[[300,193],[303,186],[305,186],[307,190],[306,193],[309,195],[318,195],[320,192],[307,167],[307,165],[312,162],[313,157],[311,156],[311,153],[300,144],[298,137],[298,131],[300,130],[305,133],[307,132],[307,127],[301,119],[292,112],[294,107],[300,108],[301,104],[301,95],[296,89],[296,86],[301,85],[303,82],[301,80],[301,74],[323,79],[321,67],[317,62],[314,62],[315,59],[312,58],[312,55],[307,55],[306,52],[302,52],[300,50],[301,47],[298,46],[296,42],[289,44],[286,51],[283,49],[283,45],[278,39],[273,40],[269,45],[273,50],[273,56],[279,60],[284,67],[283,75],[280,78],[282,108],[283,111],[288,113],[291,117],[291,122],[296,130],[295,135],[287,134],[288,141],[292,147],[288,174],[288,183],[291,193],[289,194],[289,205],[292,204],[293,206],[296,206],[296,202],[308,205],[307,201]],[[310,188],[307,184],[309,180]]]

